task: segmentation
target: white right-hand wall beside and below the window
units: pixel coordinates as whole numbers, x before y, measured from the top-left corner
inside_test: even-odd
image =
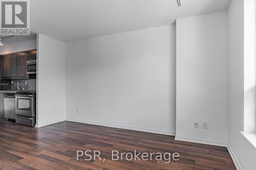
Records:
[[[228,32],[228,148],[238,169],[242,166],[242,169],[253,170],[256,167],[256,149],[240,133],[244,130],[244,1],[231,1]]]

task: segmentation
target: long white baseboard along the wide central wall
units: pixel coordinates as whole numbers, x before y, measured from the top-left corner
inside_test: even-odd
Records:
[[[78,122],[78,123],[84,123],[84,124],[91,124],[91,125],[105,126],[105,127],[111,127],[111,128],[119,128],[119,129],[127,129],[127,130],[141,131],[141,132],[149,132],[149,133],[156,133],[156,134],[162,134],[162,135],[175,136],[175,134],[176,134],[173,131],[140,128],[140,127],[126,126],[126,125],[116,125],[116,124],[93,122],[93,121],[73,119],[73,118],[66,118],[66,120],[70,121],[70,122]]]

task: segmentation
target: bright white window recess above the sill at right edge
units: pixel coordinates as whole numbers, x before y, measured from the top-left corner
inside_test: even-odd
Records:
[[[256,132],[255,0],[244,1],[244,131]]]

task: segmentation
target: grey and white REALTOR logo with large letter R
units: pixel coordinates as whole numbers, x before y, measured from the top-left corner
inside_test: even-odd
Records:
[[[0,0],[0,35],[29,35],[29,0]]]

